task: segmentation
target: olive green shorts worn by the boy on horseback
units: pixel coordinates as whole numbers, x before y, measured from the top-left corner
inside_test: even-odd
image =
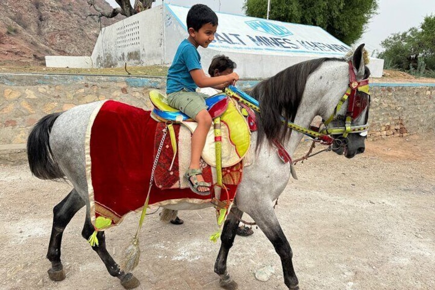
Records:
[[[208,97],[204,93],[181,90],[169,93],[166,101],[169,106],[179,109],[190,118],[195,119],[201,110],[207,109],[205,99]]]

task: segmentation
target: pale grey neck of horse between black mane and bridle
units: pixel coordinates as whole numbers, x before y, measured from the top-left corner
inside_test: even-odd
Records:
[[[301,104],[294,124],[309,128],[316,115],[331,115],[339,99],[347,89],[348,72],[345,62],[327,62],[314,71],[305,85]],[[304,134],[292,130],[289,140],[283,144],[291,157]]]

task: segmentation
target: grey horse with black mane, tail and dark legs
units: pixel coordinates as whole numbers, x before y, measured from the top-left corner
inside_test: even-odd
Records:
[[[361,45],[353,53],[351,70],[357,81],[367,79],[369,71],[364,63]],[[349,87],[349,64],[344,59],[322,58],[306,61],[289,67],[259,83],[251,92],[260,102],[257,132],[252,133],[255,159],[245,167],[244,178],[239,185],[235,206],[225,221],[221,236],[221,248],[214,272],[220,276],[220,285],[227,289],[237,287],[227,271],[227,256],[231,248],[240,218],[246,212],[263,230],[281,258],[284,282],[288,288],[298,289],[298,278],[292,264],[292,250],[273,210],[274,201],[287,186],[290,166],[283,163],[272,141],[279,141],[290,156],[302,139],[302,133],[290,130],[282,123],[282,117],[294,124],[308,128],[316,115],[327,120],[337,111],[336,105]],[[333,127],[344,127],[347,112],[346,101],[330,123]],[[47,258],[51,262],[48,270],[52,280],[65,278],[61,262],[62,234],[75,213],[86,205],[86,221],[82,236],[88,239],[94,231],[90,220],[90,203],[85,170],[85,134],[89,117],[98,102],[76,106],[62,113],[47,115],[32,129],[27,143],[28,159],[33,175],[41,179],[67,178],[73,185],[70,194],[54,209],[53,226]],[[368,106],[352,126],[367,122]],[[341,144],[333,150],[352,158],[364,152],[364,134],[351,133],[346,137],[333,136]],[[153,142],[153,140],[150,140]],[[338,144],[338,143],[337,143]],[[180,203],[168,205],[171,210],[200,209],[212,204]],[[139,281],[124,273],[107,252],[104,231],[97,234],[100,241],[92,248],[103,260],[110,275],[121,280],[125,288],[134,288]]]

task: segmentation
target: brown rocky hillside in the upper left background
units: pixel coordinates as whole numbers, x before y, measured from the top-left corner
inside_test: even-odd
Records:
[[[104,0],[95,3],[110,11]],[[100,31],[86,0],[2,0],[0,64],[41,64],[45,55],[91,55]],[[108,26],[124,16],[101,18]]]

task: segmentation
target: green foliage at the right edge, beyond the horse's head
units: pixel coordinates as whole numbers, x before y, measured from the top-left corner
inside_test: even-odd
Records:
[[[385,68],[408,70],[416,76],[431,74],[435,70],[433,31],[435,31],[435,15],[426,16],[420,27],[412,27],[406,32],[388,36],[381,43],[385,50],[378,57],[384,59]]]

